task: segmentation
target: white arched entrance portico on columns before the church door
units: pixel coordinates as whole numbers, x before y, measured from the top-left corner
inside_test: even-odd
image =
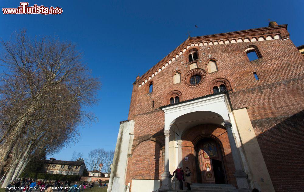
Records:
[[[233,132],[232,132],[232,125],[230,124],[229,120],[229,106],[226,103],[226,98],[224,94],[215,95],[215,96],[209,96],[201,99],[194,99],[188,102],[181,102],[174,105],[169,105],[162,107],[161,109],[165,112],[165,127],[164,127],[164,135],[165,135],[165,154],[164,154],[164,173],[162,176],[162,186],[161,189],[172,189],[171,187],[171,174],[170,174],[170,163],[169,163],[169,142],[176,141],[177,148],[176,148],[176,162],[175,165],[182,165],[183,167],[186,167],[187,165],[191,165],[193,167],[193,162],[197,162],[198,164],[198,155],[201,152],[202,155],[204,155],[204,146],[202,145],[202,149],[198,150],[199,142],[204,141],[196,141],[195,144],[193,144],[193,140],[187,140],[182,135],[184,132],[189,130],[189,128],[198,126],[198,125],[204,125],[204,124],[213,124],[215,125],[212,129],[194,129],[194,132],[200,131],[199,133],[194,133],[192,131],[192,135],[195,136],[203,136],[208,135],[213,136],[214,138],[219,138],[226,136],[226,143],[228,143],[228,146],[225,149],[229,149],[229,152],[226,151],[226,154],[230,154],[231,156],[231,162],[234,164],[234,170],[230,171],[230,177],[233,177],[233,180],[236,181],[236,186],[239,189],[249,190],[248,182],[247,182],[247,174],[244,172],[240,157],[237,151],[237,146],[234,140]],[[212,131],[212,133],[208,133]],[[225,132],[225,133],[223,133]],[[188,143],[187,142],[192,142]],[[208,142],[205,140],[205,142]],[[198,144],[198,145],[197,145]],[[185,157],[186,147],[190,147],[188,150],[192,151],[188,157]],[[213,144],[215,147],[216,145],[219,147],[220,145]],[[212,146],[211,146],[212,147]],[[196,149],[195,149],[196,148]],[[196,150],[196,151],[195,151]],[[202,151],[200,151],[202,150]],[[222,149],[221,149],[222,150]],[[208,151],[208,150],[206,150]],[[209,182],[209,183],[227,183],[229,180],[226,178],[226,168],[224,163],[224,156],[218,158],[209,158],[209,167],[206,166],[204,169],[203,167],[195,166],[193,167],[193,170],[195,170],[196,173],[200,172],[201,178],[194,177],[192,174],[192,178],[195,182],[198,182],[200,179],[200,182]],[[172,160],[172,159],[171,159]],[[174,159],[173,159],[174,161]],[[202,164],[202,166],[205,166],[208,160],[206,160],[205,164]],[[192,163],[191,163],[192,162]],[[203,163],[203,162],[202,162]],[[211,165],[214,167],[211,167]],[[187,166],[187,167],[189,167]],[[209,168],[209,171],[207,171],[207,167]],[[218,169],[218,172],[210,171],[213,169]],[[173,172],[173,171],[172,171]],[[204,174],[202,174],[204,173]],[[206,174],[205,174],[206,173]],[[214,174],[217,174],[217,180],[215,181]],[[234,173],[234,174],[233,174]],[[210,177],[210,174],[211,177]],[[222,176],[221,176],[222,175]],[[210,177],[213,180],[206,180],[206,177]]]

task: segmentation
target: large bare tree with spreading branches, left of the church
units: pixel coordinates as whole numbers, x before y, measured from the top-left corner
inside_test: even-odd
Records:
[[[2,40],[1,45],[5,72],[0,75],[0,172],[10,154],[16,164],[23,155],[22,161],[27,161],[37,147],[54,152],[71,140],[78,126],[93,120],[83,106],[96,101],[99,88],[71,43],[50,37],[30,39],[21,32],[9,42]],[[28,138],[28,133],[33,138]],[[31,147],[28,143],[21,150],[30,148],[29,154],[20,153],[17,144],[21,137],[23,142],[30,141]]]

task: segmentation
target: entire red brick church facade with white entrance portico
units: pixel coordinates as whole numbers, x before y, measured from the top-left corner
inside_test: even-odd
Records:
[[[178,166],[192,190],[302,191],[303,67],[276,22],[188,38],[133,83],[108,192],[177,190]]]

